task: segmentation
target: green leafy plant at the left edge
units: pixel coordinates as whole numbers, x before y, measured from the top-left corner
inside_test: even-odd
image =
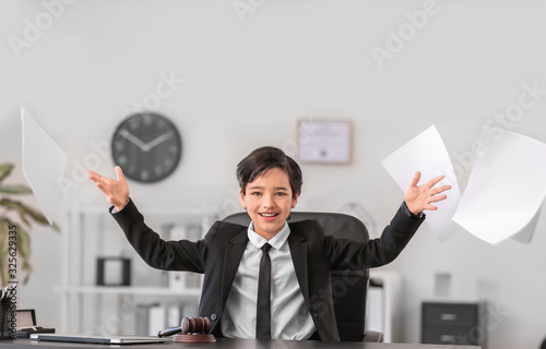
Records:
[[[33,222],[49,225],[39,210],[11,198],[12,195],[33,193],[32,189],[24,184],[3,184],[12,170],[13,164],[0,165],[0,278],[2,287],[5,287],[15,276],[20,280],[23,275],[23,281],[27,280],[32,272],[28,229],[32,228]],[[59,230],[56,225],[52,228]],[[13,263],[15,255],[17,260]],[[19,274],[19,272],[23,273]]]

